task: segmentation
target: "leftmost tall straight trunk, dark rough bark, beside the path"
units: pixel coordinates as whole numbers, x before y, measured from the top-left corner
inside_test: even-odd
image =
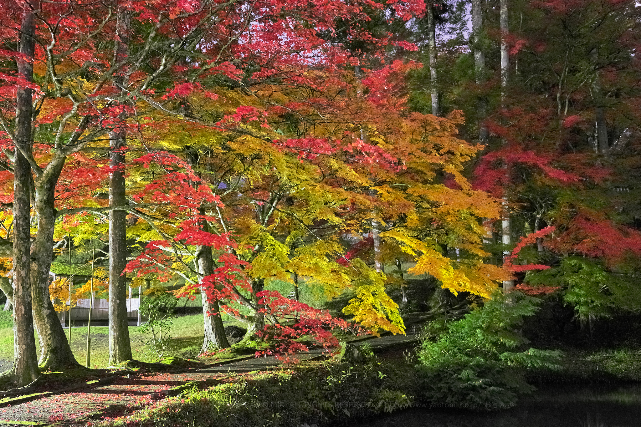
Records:
[[[33,58],[35,51],[34,17],[26,9],[22,14],[20,52]],[[18,60],[18,72],[28,81],[33,79],[33,63]],[[33,115],[33,91],[18,88],[16,94],[15,138],[16,144],[26,151],[31,150],[31,117]],[[12,382],[26,385],[38,378],[36,341],[33,337],[31,314],[31,265],[29,262],[29,194],[31,193],[31,166],[22,153],[15,148],[13,166],[13,359]]]

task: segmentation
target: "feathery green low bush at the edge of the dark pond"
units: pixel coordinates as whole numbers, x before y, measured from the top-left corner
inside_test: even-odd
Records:
[[[497,292],[464,319],[430,322],[419,351],[426,382],[421,397],[460,407],[499,408],[532,391],[524,379],[526,369],[557,369],[562,356],[556,350],[528,349],[528,340],[517,330],[537,303],[518,292]]]

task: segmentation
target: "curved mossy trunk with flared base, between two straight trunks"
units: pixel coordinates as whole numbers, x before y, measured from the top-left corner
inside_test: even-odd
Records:
[[[44,179],[35,180],[35,209],[38,213],[38,234],[31,245],[31,297],[33,320],[40,341],[38,364],[47,371],[79,367],[69,341],[56,315],[49,295],[49,271],[53,257],[53,230],[56,222],[54,197],[56,182],[63,163]]]

